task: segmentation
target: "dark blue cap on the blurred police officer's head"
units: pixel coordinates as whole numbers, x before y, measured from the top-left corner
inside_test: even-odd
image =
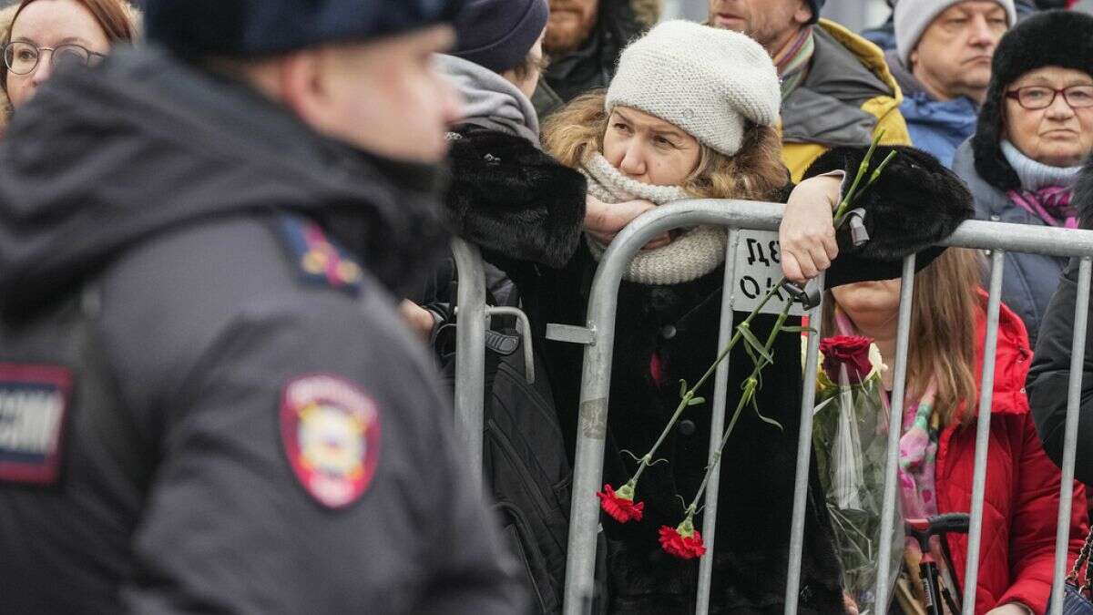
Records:
[[[451,22],[463,0],[144,0],[148,38],[181,56],[268,56]]]

